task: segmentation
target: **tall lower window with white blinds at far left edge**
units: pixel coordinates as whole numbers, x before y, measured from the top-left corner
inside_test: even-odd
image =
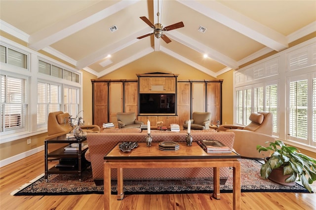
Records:
[[[1,132],[23,129],[27,104],[25,79],[1,74]]]

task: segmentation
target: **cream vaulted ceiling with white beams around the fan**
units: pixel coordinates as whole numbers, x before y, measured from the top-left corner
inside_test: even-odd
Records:
[[[153,33],[141,16],[184,27],[163,32],[168,44],[137,39]],[[216,77],[315,32],[316,1],[0,0],[0,30],[97,77],[154,51]]]

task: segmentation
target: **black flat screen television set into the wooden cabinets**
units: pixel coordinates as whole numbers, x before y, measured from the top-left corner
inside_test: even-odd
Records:
[[[176,94],[141,93],[139,114],[175,115],[175,100]]]

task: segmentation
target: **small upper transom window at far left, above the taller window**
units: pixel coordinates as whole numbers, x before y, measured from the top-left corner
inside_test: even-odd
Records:
[[[28,56],[24,53],[10,49],[8,47],[1,47],[1,62],[10,64],[23,69],[28,69]]]

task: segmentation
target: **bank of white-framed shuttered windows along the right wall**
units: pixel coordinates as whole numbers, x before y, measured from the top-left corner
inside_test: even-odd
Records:
[[[251,107],[273,113],[273,135],[293,146],[316,147],[316,39],[241,68],[235,76],[235,123],[246,125]]]

